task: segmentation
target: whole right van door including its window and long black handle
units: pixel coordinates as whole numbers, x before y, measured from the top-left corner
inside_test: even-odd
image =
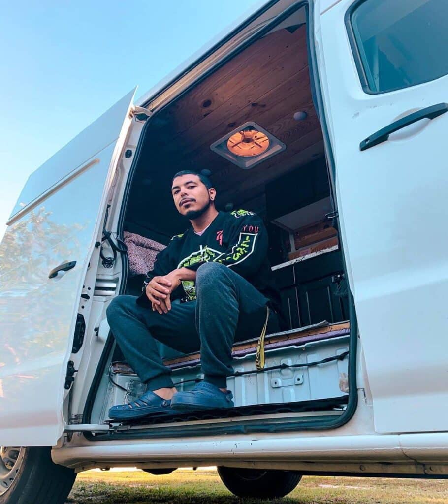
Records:
[[[315,36],[375,430],[446,430],[448,5],[321,6]]]

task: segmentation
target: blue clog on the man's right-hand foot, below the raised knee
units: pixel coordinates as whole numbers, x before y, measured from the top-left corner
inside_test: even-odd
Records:
[[[211,383],[201,382],[193,390],[176,392],[171,399],[171,408],[175,411],[233,408],[232,399],[230,391],[222,392]]]

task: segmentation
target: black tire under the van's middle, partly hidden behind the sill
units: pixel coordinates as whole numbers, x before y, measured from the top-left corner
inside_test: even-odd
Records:
[[[219,466],[218,474],[224,485],[238,497],[279,498],[292,492],[302,475],[295,471],[277,469],[246,469]]]

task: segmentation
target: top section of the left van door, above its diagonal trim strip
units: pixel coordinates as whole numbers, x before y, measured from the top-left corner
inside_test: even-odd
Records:
[[[88,159],[104,149],[106,145],[116,141],[123,124],[123,111],[129,107],[136,89],[123,96],[120,101],[31,173],[11,213],[10,220],[43,193],[51,190],[66,177],[74,175]]]

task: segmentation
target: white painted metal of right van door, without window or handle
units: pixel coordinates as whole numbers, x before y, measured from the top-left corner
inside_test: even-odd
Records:
[[[375,430],[446,430],[448,114],[418,121],[363,151],[360,143],[405,115],[447,101],[448,77],[364,92],[342,29],[352,4],[344,0],[323,14],[318,45],[325,54],[321,77],[341,238]]]

